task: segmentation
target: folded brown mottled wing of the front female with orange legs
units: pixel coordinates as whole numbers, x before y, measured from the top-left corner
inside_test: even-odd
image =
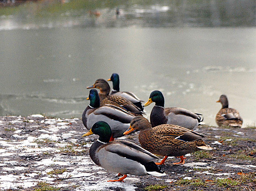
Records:
[[[185,142],[196,141],[204,137],[204,135],[196,133],[195,131],[186,129],[184,127],[175,126],[172,124],[161,124],[160,126],[154,127],[153,134],[160,138],[165,137],[165,139],[167,140],[168,138],[169,139],[172,138],[172,139],[178,139]]]

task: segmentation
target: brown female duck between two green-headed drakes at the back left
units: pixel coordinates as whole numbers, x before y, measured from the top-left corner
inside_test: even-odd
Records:
[[[87,89],[96,88],[99,89],[100,101],[102,104],[111,102],[113,105],[122,107],[126,111],[135,114],[142,115],[144,112],[139,107],[135,106],[132,102],[121,96],[109,95],[110,86],[105,79],[97,79],[91,86],[87,86]]]

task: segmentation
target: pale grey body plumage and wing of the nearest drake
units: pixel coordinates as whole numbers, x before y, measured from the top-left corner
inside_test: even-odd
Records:
[[[99,143],[98,143],[99,144]],[[93,155],[90,149],[90,156]],[[92,158],[93,156],[91,156]],[[94,158],[94,159],[93,159]],[[142,163],[149,163],[158,159],[152,153],[140,146],[127,141],[113,141],[99,146],[92,159],[98,161],[99,166],[109,171],[121,174],[148,175]],[[158,175],[165,175],[159,173]]]

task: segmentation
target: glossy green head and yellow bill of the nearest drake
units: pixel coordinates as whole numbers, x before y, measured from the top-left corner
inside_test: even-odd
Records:
[[[101,142],[108,143],[112,135],[112,131],[107,122],[98,121],[94,123],[92,129],[89,130],[86,134],[82,135],[82,137],[89,136],[92,134],[99,135],[99,140]]]

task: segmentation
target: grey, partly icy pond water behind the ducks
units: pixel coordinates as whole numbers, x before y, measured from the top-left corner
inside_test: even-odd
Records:
[[[238,5],[218,9],[219,1],[184,2],[120,6],[119,16],[116,8],[100,9],[100,17],[85,10],[54,19],[2,16],[0,115],[81,117],[86,86],[116,72],[121,91],[147,101],[151,91],[161,90],[165,107],[202,113],[214,126],[221,107],[216,101],[226,94],[244,126],[255,125],[253,1],[239,11]],[[232,19],[232,10],[241,17]],[[148,117],[152,107],[146,107]]]

